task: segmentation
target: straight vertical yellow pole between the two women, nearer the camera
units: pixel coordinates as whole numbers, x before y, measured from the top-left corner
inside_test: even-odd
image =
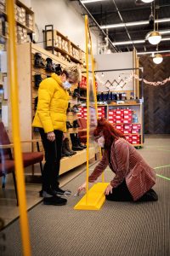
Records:
[[[87,74],[87,171],[86,171],[86,204],[88,204],[88,176],[89,176],[89,77],[88,77],[88,15],[85,15],[85,35],[86,35],[86,74]]]

